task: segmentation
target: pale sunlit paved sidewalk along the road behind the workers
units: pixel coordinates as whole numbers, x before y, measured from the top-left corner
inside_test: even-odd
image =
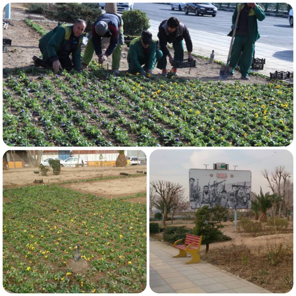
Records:
[[[153,39],[158,40],[157,33],[160,23],[151,19],[149,23],[151,25],[149,31],[152,33]],[[216,60],[227,62],[231,37],[192,29],[189,30],[189,33],[193,53],[210,57],[212,50],[214,50]],[[185,45],[184,47],[186,50]],[[293,72],[293,50],[263,44],[259,39],[255,43],[255,58],[265,59],[265,65],[263,70],[252,70],[253,72],[259,72],[266,76],[270,76],[269,73],[275,71]]]

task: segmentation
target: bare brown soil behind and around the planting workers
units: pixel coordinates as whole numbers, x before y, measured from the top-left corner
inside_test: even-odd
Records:
[[[33,17],[32,17],[33,16]],[[38,18],[40,16],[36,15]],[[31,18],[35,22],[38,22],[43,28],[50,31],[57,25],[57,21],[45,19],[34,19],[34,15],[30,15],[25,12],[25,7],[22,3],[12,3],[11,5],[11,23],[14,26],[8,26],[7,30],[3,30],[3,37],[12,39],[12,45],[7,48],[7,52],[3,53],[3,69],[10,70],[15,67],[29,68],[33,66],[33,55],[39,55],[40,51],[38,48],[38,43],[40,35],[36,33],[33,29],[28,27],[22,19]],[[85,46],[82,47],[82,52],[84,51]],[[120,62],[120,71],[122,74],[125,74],[128,70],[127,63],[127,53],[128,47],[124,46],[121,53],[121,62]],[[96,57],[94,57],[96,59]],[[185,54],[184,58],[187,58]],[[107,60],[109,63],[109,68],[111,68],[111,57]],[[184,68],[178,69],[179,78],[198,78],[206,82],[209,80],[213,81],[223,81],[225,83],[234,83],[239,80],[241,77],[239,72],[236,72],[236,77],[238,78],[229,78],[226,80],[221,80],[219,77],[221,65],[219,64],[208,64],[208,62],[201,58],[196,58],[196,68]],[[155,76],[162,78],[161,70],[154,69]],[[241,83],[269,83],[268,79],[250,76],[249,81],[240,80]],[[290,81],[291,82],[291,81]]]

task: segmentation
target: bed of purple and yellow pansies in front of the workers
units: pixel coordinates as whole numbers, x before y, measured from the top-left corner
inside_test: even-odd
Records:
[[[293,87],[88,72],[4,75],[9,146],[287,146]]]

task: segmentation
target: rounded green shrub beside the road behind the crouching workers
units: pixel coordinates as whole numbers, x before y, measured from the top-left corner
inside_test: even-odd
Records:
[[[142,31],[150,27],[146,12],[141,10],[124,11],[122,20],[125,36],[141,36]]]

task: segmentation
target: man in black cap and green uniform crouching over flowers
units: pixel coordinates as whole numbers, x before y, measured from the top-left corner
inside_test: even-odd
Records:
[[[152,40],[149,31],[143,31],[142,36],[130,42],[127,54],[129,73],[140,73],[143,76],[152,75],[155,63],[162,57],[162,51],[156,49],[156,41]],[[142,65],[144,67],[142,67]]]

